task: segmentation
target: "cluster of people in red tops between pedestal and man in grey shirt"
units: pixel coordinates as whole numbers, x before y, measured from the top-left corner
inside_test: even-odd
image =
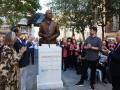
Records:
[[[78,46],[75,39],[63,39],[61,42],[62,47],[62,70],[66,71],[67,68],[75,68],[77,71],[77,57]]]

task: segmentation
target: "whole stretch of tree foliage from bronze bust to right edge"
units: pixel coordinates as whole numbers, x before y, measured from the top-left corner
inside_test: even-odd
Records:
[[[97,21],[102,23],[102,27],[105,26],[103,21],[104,14],[106,20],[110,20],[113,15],[120,16],[120,0],[51,1],[49,5],[52,10],[55,11],[60,25],[72,28],[71,30],[73,30],[73,32],[81,32],[83,36],[86,26],[93,25]]]

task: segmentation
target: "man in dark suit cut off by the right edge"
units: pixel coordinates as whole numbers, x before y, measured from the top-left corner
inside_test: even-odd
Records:
[[[109,54],[112,90],[120,90],[120,31],[117,32],[116,41],[118,44]]]

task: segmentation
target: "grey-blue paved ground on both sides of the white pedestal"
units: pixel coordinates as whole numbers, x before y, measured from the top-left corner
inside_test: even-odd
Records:
[[[28,66],[28,83],[27,87],[28,90],[36,90],[36,66],[30,65]],[[75,84],[79,81],[80,76],[76,75],[74,70],[67,70],[66,72],[62,73],[62,79],[64,83],[64,88],[61,89],[54,89],[54,90],[90,90],[89,82],[85,82],[84,87],[75,86]],[[51,89],[53,90],[53,89]],[[103,84],[100,82],[97,82],[95,85],[95,90],[112,90],[110,84]]]

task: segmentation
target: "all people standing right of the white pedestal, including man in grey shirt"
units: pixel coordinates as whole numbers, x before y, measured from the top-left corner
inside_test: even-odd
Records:
[[[113,52],[116,46],[118,46],[119,39],[120,37],[118,34],[117,41],[107,39],[101,41],[101,39],[97,37],[96,27],[90,28],[90,36],[83,42],[77,43],[74,38],[63,38],[60,42],[60,46],[62,47],[62,70],[76,70],[76,74],[81,75],[81,79],[76,85],[83,86],[84,80],[88,80],[88,68],[90,68],[90,86],[94,89],[94,84],[97,80],[96,70],[98,69],[102,72],[102,82],[105,84],[114,83],[115,88],[113,85],[113,90],[119,90],[120,83],[113,78],[116,73],[112,74],[113,76],[111,75],[110,67],[111,62],[115,61],[114,58],[112,61],[111,54],[114,54]],[[117,55],[117,58],[120,59],[119,52],[117,52]]]

